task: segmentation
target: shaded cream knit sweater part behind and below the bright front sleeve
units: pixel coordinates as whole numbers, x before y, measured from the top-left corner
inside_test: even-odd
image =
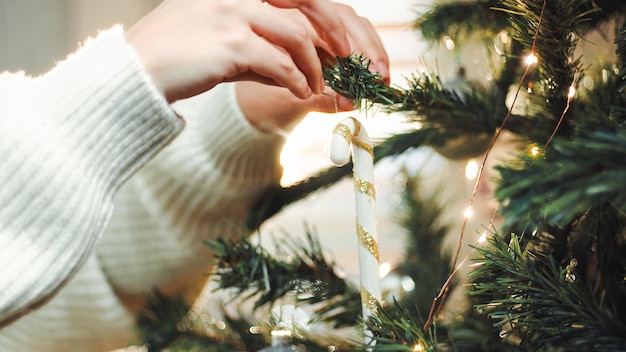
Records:
[[[106,351],[132,342],[154,286],[199,293],[212,254],[202,241],[244,235],[251,204],[281,175],[282,137],[254,129],[234,84],[174,106],[176,140],[117,193],[115,211],[75,279],[38,311],[0,330],[0,351]]]

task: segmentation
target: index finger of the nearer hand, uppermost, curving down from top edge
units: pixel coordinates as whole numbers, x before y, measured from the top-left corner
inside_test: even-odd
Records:
[[[319,36],[340,57],[350,55],[346,28],[333,3],[328,0],[266,0],[280,8],[296,8],[311,22]]]

